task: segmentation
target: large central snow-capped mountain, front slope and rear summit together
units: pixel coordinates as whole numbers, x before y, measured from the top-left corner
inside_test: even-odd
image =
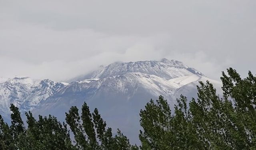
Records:
[[[132,143],[138,143],[139,112],[151,98],[156,99],[162,95],[172,108],[180,92],[196,97],[196,83],[208,79],[198,71],[190,72],[178,61],[175,65],[172,64],[174,62],[176,61],[162,60],[110,64],[81,77],[83,80],[71,82],[63,87],[42,102],[34,113],[54,114],[60,120],[64,120],[63,114],[68,112],[70,106],[80,108],[86,102],[91,111],[98,108],[113,130],[120,128]],[[151,68],[152,64],[156,66],[153,67],[156,71]],[[138,69],[135,66],[139,66]],[[217,81],[214,81],[214,84],[221,85]],[[191,85],[191,90],[183,88],[187,85]]]

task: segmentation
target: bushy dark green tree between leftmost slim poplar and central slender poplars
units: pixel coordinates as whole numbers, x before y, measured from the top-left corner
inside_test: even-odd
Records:
[[[56,117],[39,116],[39,120],[32,116],[31,112],[27,116],[27,137],[31,150],[72,150],[74,146],[70,140],[70,134],[66,124],[61,124]]]

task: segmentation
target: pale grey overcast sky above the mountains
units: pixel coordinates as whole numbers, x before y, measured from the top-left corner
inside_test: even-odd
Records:
[[[0,76],[65,80],[115,61],[175,59],[256,74],[256,0],[0,0]]]

